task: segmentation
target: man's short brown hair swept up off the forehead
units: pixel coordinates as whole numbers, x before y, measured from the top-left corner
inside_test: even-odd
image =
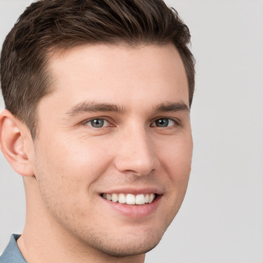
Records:
[[[175,9],[162,0],[40,0],[32,3],[7,35],[1,54],[6,108],[36,135],[36,107],[52,92],[50,50],[102,43],[174,43],[183,61],[191,106],[195,70],[187,47],[191,35]]]

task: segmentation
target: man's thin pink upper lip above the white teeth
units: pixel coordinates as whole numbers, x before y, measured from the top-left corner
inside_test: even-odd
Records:
[[[104,193],[104,194],[134,194],[134,195],[138,195],[138,194],[149,194],[149,193],[154,193],[154,194],[158,194],[158,195],[162,195],[163,191],[158,188],[158,187],[154,187],[154,186],[147,186],[147,187],[115,187],[112,189],[107,189],[104,192],[100,192]]]

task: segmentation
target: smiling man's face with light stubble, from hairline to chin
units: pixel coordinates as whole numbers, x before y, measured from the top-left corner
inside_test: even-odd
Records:
[[[178,51],[82,46],[49,66],[55,91],[37,108],[33,162],[45,220],[65,240],[110,255],[151,250],[178,212],[191,170]]]

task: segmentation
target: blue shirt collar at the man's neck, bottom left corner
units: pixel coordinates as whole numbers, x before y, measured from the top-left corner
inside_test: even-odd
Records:
[[[27,263],[17,247],[16,240],[20,235],[13,234],[10,241],[0,256],[0,263]]]

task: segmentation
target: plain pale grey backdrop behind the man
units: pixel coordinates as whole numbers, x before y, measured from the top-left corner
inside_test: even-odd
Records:
[[[0,0],[0,43],[30,2]],[[146,263],[262,263],[263,1],[166,3],[192,34],[194,154],[181,210]],[[25,196],[2,154],[0,164],[3,252],[10,235],[23,230]]]

